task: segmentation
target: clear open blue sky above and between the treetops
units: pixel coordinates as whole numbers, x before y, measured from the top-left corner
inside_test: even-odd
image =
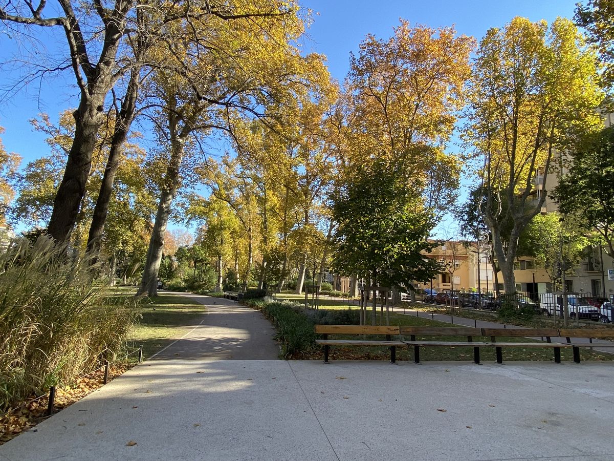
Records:
[[[318,52],[327,56],[328,69],[333,77],[343,81],[348,73],[349,53],[356,52],[367,33],[387,38],[399,18],[413,24],[428,26],[455,25],[458,33],[480,39],[488,28],[503,26],[515,16],[530,20],[545,19],[549,23],[558,16],[572,17],[577,0],[303,0],[303,7],[313,10],[313,24],[308,30],[303,47],[305,52]],[[54,52],[53,36],[61,33],[49,30],[33,30],[42,37],[39,45]],[[45,34],[41,36],[38,34]],[[61,36],[60,36],[61,39]],[[22,46],[27,47],[25,43]],[[14,39],[0,34],[0,61],[10,60],[17,50]],[[6,88],[13,77],[0,71],[0,88]],[[68,85],[67,85],[68,84]],[[56,77],[42,85],[31,84],[18,93],[12,101],[0,105],[0,126],[6,128],[1,135],[7,151],[17,152],[26,162],[49,153],[42,133],[33,132],[28,120],[44,111],[55,122],[58,114],[77,104],[77,91],[71,75]],[[147,135],[146,135],[147,137]],[[454,151],[454,146],[451,146]]]

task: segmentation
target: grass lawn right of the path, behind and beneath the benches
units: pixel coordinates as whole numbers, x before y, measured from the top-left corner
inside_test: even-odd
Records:
[[[290,301],[300,301],[300,296],[297,294],[282,294],[278,296],[278,299],[289,299]],[[305,299],[303,296],[301,299]],[[311,298],[309,298],[311,302]],[[335,299],[321,299],[321,309],[348,309],[348,301]],[[350,309],[358,309],[358,306],[351,306]],[[370,307],[367,312],[368,319],[370,319]],[[378,324],[380,308],[378,307]],[[472,312],[473,313],[473,312]],[[480,312],[475,312],[479,314]],[[384,312],[384,316],[386,313]],[[456,315],[456,313],[454,314]],[[385,318],[385,317],[384,317]],[[493,320],[492,317],[489,320]],[[429,320],[422,317],[413,317],[411,315],[403,315],[402,311],[395,307],[395,312],[390,313],[390,324],[393,326],[453,326],[446,322],[437,320]],[[454,325],[456,326],[456,325]],[[551,328],[551,326],[550,326]],[[362,339],[362,335],[328,335],[329,339]],[[368,339],[385,339],[384,336],[368,336]],[[409,339],[407,337],[406,339]],[[423,336],[416,337],[416,339],[427,341],[450,341],[459,339],[466,341],[466,337],[434,337]],[[489,337],[473,337],[474,341],[490,341]],[[528,338],[497,338],[500,342],[535,342]],[[582,360],[614,360],[614,355],[608,353],[596,353],[591,352],[589,349],[582,349]],[[370,359],[370,360],[389,360],[390,353],[387,347],[365,347],[365,346],[352,346],[352,347],[338,347],[332,346],[330,349],[330,358],[332,360],[348,360],[348,359]],[[324,358],[324,353],[321,348],[318,347],[316,351],[309,356],[309,358]],[[420,359],[422,360],[459,360],[459,361],[472,361],[473,360],[473,347],[421,347]],[[413,361],[413,349],[409,348],[397,348],[397,360],[410,360]],[[481,360],[482,361],[495,361],[495,349],[494,347],[481,348]],[[550,348],[522,348],[522,347],[507,347],[503,349],[504,361],[554,361],[554,353]],[[561,349],[561,360],[573,360],[573,353],[571,348]]]

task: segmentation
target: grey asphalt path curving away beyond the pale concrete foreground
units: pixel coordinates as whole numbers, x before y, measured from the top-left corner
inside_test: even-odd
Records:
[[[266,360],[279,357],[275,329],[262,312],[230,299],[165,291],[206,306],[200,322],[181,339],[153,355],[153,360]]]

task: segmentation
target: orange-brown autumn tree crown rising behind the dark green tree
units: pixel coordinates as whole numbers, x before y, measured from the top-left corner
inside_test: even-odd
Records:
[[[345,157],[397,164],[419,207],[441,211],[456,197],[460,164],[445,152],[470,74],[470,37],[454,28],[412,27],[389,39],[369,34],[350,59]]]

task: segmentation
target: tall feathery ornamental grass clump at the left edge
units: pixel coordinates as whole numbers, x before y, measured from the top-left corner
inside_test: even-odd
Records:
[[[0,251],[0,408],[121,352],[136,314],[51,238]]]

